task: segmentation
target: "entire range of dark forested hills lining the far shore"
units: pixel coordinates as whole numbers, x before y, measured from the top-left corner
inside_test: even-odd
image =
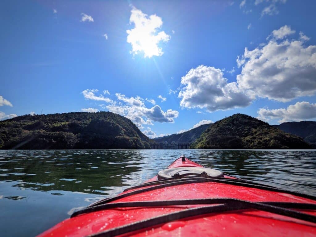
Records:
[[[149,139],[130,119],[112,112],[25,115],[0,121],[0,149],[149,149],[151,142],[165,141],[192,143],[191,148],[197,149],[308,149],[307,143],[316,147],[316,122],[271,126],[234,114],[214,124]]]

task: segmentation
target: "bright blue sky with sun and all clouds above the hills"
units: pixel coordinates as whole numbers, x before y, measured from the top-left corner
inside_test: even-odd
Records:
[[[0,119],[105,110],[149,137],[235,113],[313,120],[315,9],[290,0],[4,1]]]

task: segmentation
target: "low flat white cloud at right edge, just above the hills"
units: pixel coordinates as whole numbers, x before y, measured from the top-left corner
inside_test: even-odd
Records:
[[[297,102],[294,105],[289,105],[287,108],[268,109],[261,108],[258,110],[258,119],[265,121],[271,119],[279,119],[279,123],[290,121],[302,121],[306,119],[316,118],[316,104],[309,102]]]

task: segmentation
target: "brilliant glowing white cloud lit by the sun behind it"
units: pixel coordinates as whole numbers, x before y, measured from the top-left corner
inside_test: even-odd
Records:
[[[127,42],[131,44],[131,53],[144,53],[144,57],[161,56],[162,48],[158,46],[160,42],[170,40],[170,35],[164,31],[159,31],[162,26],[161,17],[157,15],[146,15],[135,7],[131,10],[130,24],[134,23],[135,27],[126,30]]]

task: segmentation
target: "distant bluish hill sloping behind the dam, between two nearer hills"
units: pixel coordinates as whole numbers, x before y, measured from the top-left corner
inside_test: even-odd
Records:
[[[198,126],[197,128],[193,128],[189,131],[182,132],[179,134],[172,134],[169,136],[164,137],[156,137],[154,138],[155,142],[176,142],[176,143],[192,143],[197,138],[201,136],[201,134],[207,129],[211,124],[204,124],[201,126]]]

